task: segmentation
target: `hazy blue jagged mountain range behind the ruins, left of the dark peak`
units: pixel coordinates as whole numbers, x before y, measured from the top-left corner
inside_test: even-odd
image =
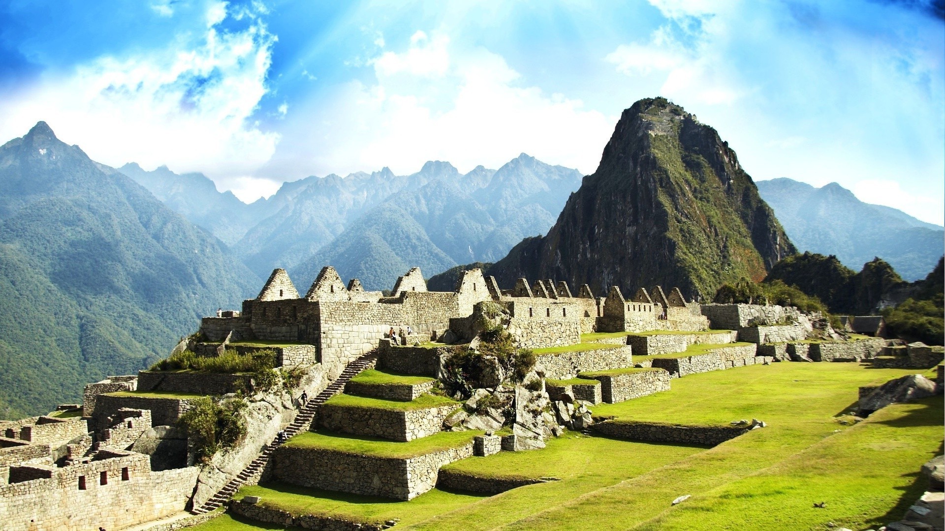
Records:
[[[575,169],[524,153],[498,170],[476,166],[465,175],[431,161],[403,177],[385,168],[309,178],[239,248],[257,272],[282,265],[304,283],[331,265],[367,289],[390,288],[410,266],[431,274],[505,256],[525,235],[554,224],[580,179]]]

